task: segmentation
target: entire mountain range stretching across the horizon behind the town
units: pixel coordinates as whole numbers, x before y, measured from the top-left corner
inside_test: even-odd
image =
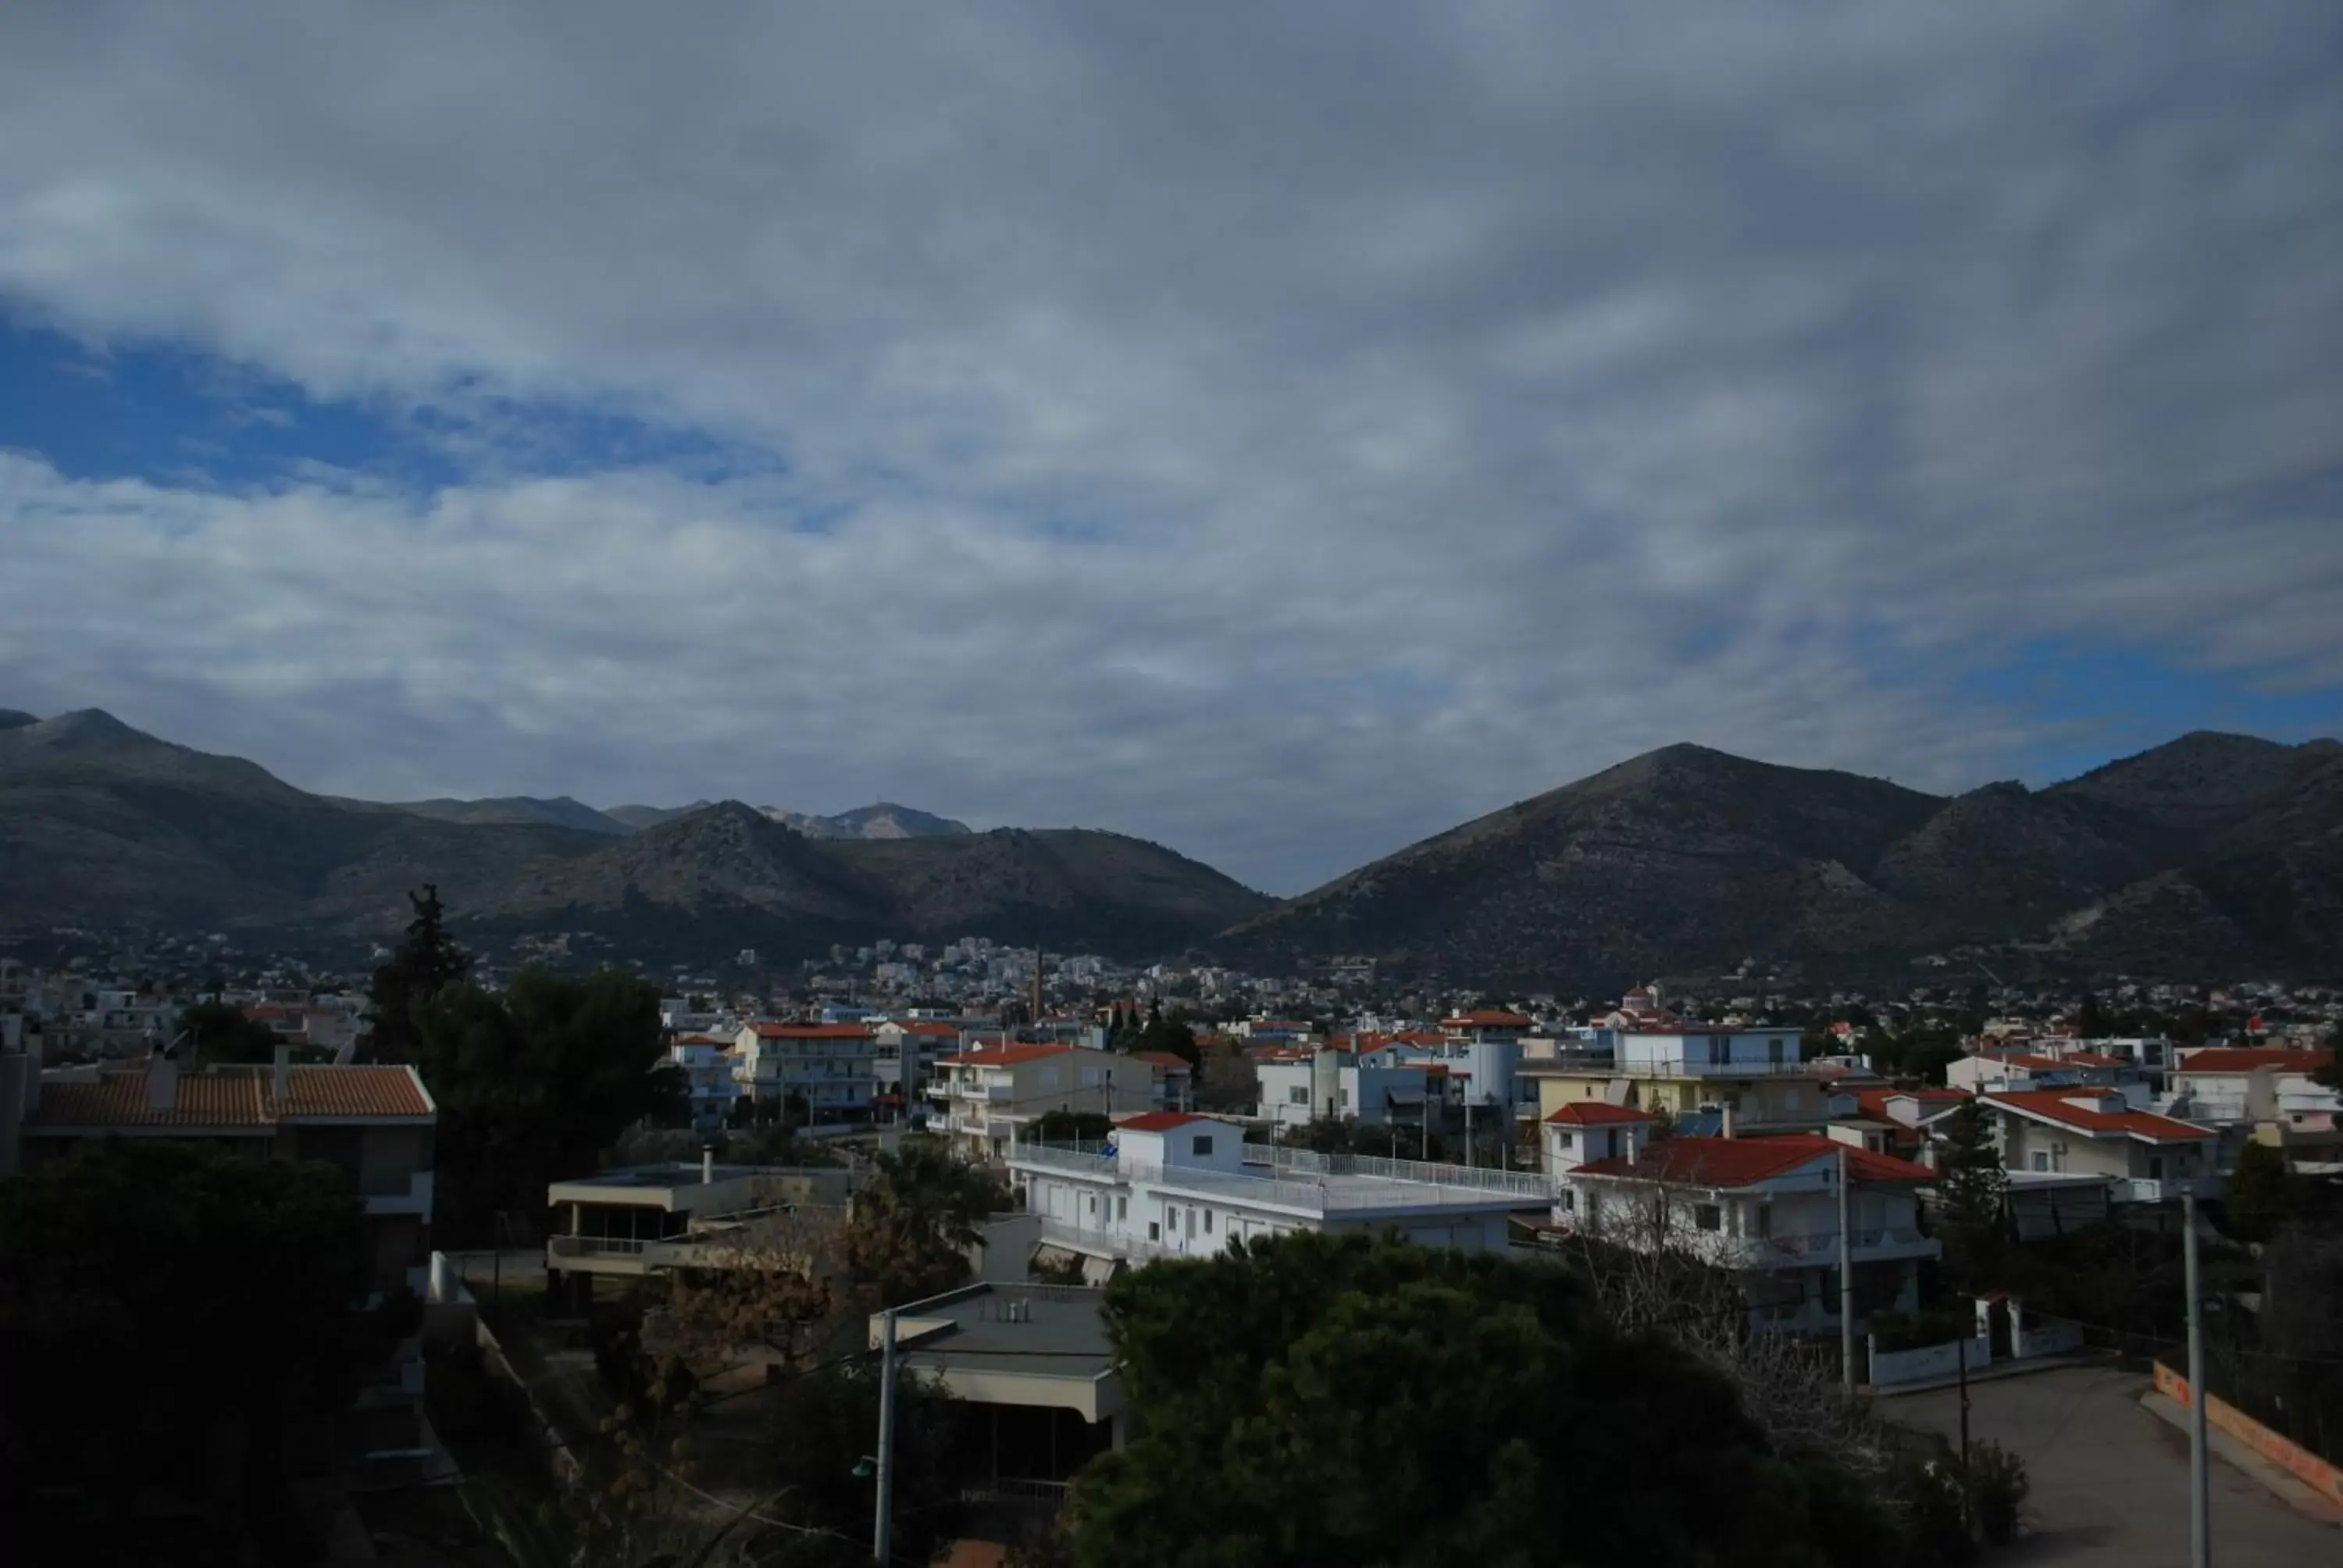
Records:
[[[2343,745],[2191,734],[2043,790],[1942,797],[1671,745],[1275,902],[1094,830],[970,832],[874,804],[595,811],[569,797],[356,802],[98,710],[0,710],[0,928],[380,938],[436,881],[483,933],[637,956],[991,935],[1263,970],[1617,987],[1743,959],[2343,977]]]

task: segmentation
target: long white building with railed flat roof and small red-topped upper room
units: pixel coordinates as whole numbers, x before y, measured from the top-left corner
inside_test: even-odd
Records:
[[[1082,1263],[1089,1277],[1291,1230],[1399,1230],[1427,1247],[1502,1252],[1509,1219],[1549,1202],[1544,1179],[1521,1172],[1345,1163],[1242,1139],[1232,1123],[1150,1111],[1104,1148],[1017,1144],[1007,1167],[1040,1219],[1043,1261]]]

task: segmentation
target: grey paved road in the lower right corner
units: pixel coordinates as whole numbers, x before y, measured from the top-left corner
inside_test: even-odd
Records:
[[[2027,1460],[2027,1538],[1994,1563],[2024,1568],[2188,1566],[2188,1437],[2139,1409],[2142,1373],[2069,1366],[1968,1388],[1968,1434]],[[1881,1399],[1879,1413],[1959,1441],[1954,1390]],[[2256,1479],[2212,1460],[2219,1568],[2343,1563],[2343,1528],[2317,1523]]]

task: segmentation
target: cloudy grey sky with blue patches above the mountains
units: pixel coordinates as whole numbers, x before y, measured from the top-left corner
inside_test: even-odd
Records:
[[[0,705],[1296,893],[2343,731],[2343,7],[0,7]]]

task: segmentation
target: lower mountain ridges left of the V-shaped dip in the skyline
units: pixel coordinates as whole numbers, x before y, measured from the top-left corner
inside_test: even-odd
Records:
[[[874,935],[1179,949],[1268,900],[1106,832],[928,827],[815,839],[738,802],[628,832],[555,802],[375,804],[145,736],[103,713],[0,727],[0,928],[223,926],[382,935],[436,881],[459,921],[600,930],[628,952],[776,956]],[[574,809],[574,811],[569,811]],[[600,818],[602,813],[590,813]],[[567,818],[567,820],[565,820]],[[843,830],[841,830],[843,832]],[[916,837],[914,837],[916,834]]]

